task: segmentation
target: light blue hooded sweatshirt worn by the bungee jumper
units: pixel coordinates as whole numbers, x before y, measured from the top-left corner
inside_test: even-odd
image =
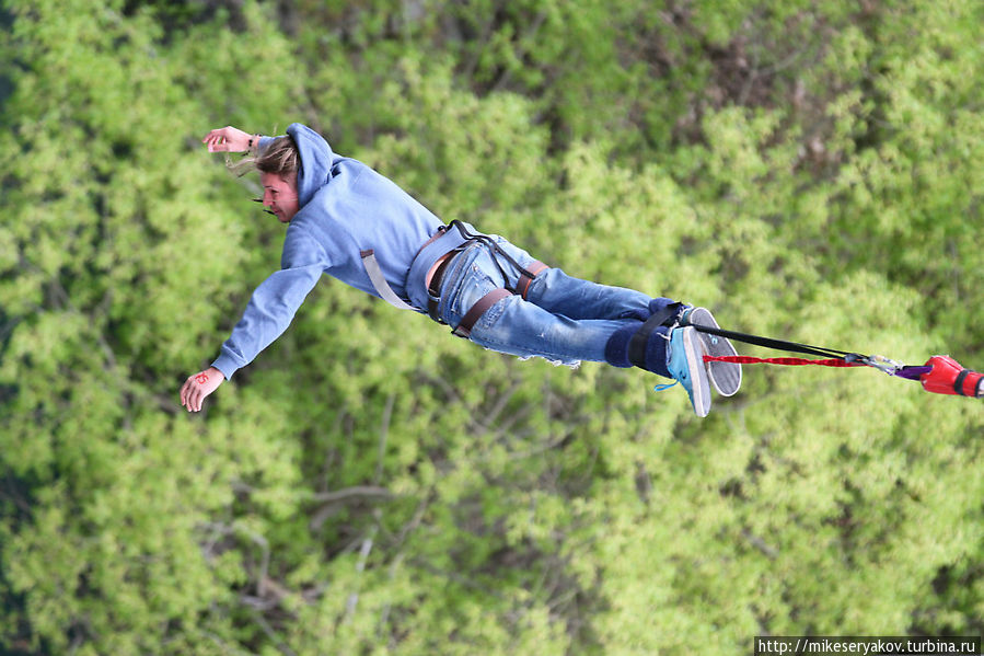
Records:
[[[327,141],[306,126],[294,123],[287,134],[301,156],[300,209],[287,228],[280,271],[253,292],[243,318],[212,362],[227,380],[287,330],[322,274],[378,297],[361,260],[361,252],[372,249],[393,291],[422,310],[426,290],[418,272],[441,254],[429,249],[431,256],[418,257],[415,264],[421,244],[442,222],[409,194],[366,164],[335,154]],[[271,140],[264,137],[259,148]]]

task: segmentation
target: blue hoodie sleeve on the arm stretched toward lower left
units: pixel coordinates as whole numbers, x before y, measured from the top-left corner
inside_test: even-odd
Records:
[[[329,262],[314,239],[291,226],[283,241],[280,266],[280,271],[271,274],[253,292],[243,318],[212,362],[225,380],[252,362],[287,330]]]

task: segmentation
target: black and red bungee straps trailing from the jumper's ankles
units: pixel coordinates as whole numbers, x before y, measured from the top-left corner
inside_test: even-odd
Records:
[[[861,355],[859,353],[837,350],[821,346],[810,346],[797,342],[785,342],[759,335],[749,335],[734,331],[726,331],[719,327],[688,323],[685,318],[679,320],[678,325],[692,325],[695,330],[743,342],[754,346],[800,353],[803,355],[820,356],[821,359],[809,358],[756,358],[749,356],[704,356],[706,362],[734,362],[738,365],[820,365],[823,367],[872,367],[888,373],[907,380],[918,380],[923,389],[937,394],[959,394],[961,396],[984,396],[984,375],[966,369],[949,356],[936,355],[930,357],[925,365],[903,365],[896,360],[880,355]]]

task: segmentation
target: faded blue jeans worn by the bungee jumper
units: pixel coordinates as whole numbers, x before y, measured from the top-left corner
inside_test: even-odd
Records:
[[[521,266],[535,262],[525,251],[498,235],[489,235]],[[493,289],[514,289],[519,272],[491,250],[472,243],[449,264],[441,281],[438,313],[448,325],[462,317]],[[505,274],[505,275],[503,275]],[[568,276],[548,268],[533,279],[526,300],[513,295],[482,315],[472,327],[476,344],[519,357],[542,357],[577,365],[581,360],[605,361],[605,344],[626,326],[641,325],[649,315],[649,296]]]

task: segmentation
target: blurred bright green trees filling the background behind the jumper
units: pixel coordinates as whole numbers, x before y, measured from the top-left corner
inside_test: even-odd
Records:
[[[325,279],[176,400],[279,261],[198,139],[292,120],[571,274],[980,369],[980,3],[0,7],[5,651],[982,632],[980,404],[873,371],[750,368],[697,421]]]

